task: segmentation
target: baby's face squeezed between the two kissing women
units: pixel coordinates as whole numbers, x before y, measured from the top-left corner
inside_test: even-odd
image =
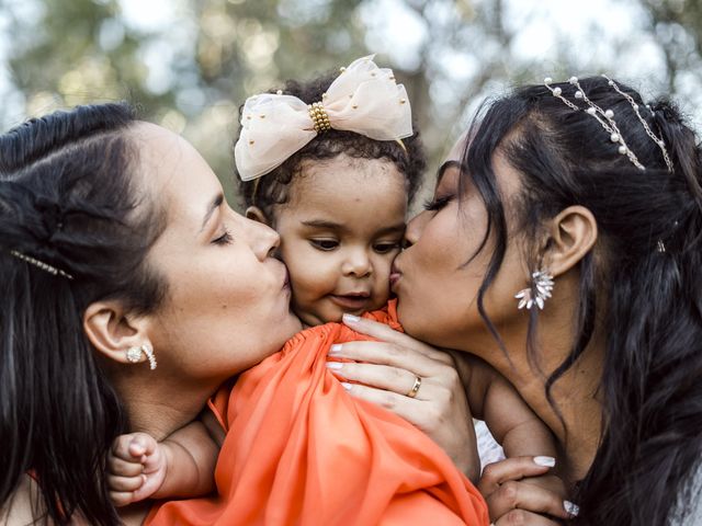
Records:
[[[274,215],[293,309],[305,324],[385,305],[406,213],[405,179],[389,161],[342,155],[303,164]]]

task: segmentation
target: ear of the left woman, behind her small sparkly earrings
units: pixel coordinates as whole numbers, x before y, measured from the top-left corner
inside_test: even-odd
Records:
[[[122,364],[128,363],[129,348],[151,345],[146,318],[128,315],[116,300],[90,304],[83,315],[83,330],[99,353]]]

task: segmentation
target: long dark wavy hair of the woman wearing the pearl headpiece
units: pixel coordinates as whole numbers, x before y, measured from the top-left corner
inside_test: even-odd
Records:
[[[587,96],[614,119],[646,167],[620,155],[618,144],[586,113],[568,82],[553,84],[582,111],[574,111],[545,85],[529,85],[494,101],[476,118],[463,155],[462,185],[469,178],[485,204],[487,230],[479,250],[495,247],[478,294],[485,293],[507,248],[505,205],[495,178],[500,150],[521,175],[516,199],[520,228],[531,239],[545,220],[571,205],[587,207],[598,242],[579,263],[576,336],[563,364],[548,375],[546,395],[585,351],[604,320],[607,354],[600,382],[603,435],[595,461],[578,484],[582,525],[663,525],[689,512],[691,478],[702,458],[702,188],[694,133],[666,100],[649,106],[618,82],[650,129],[663,138],[673,164],[646,134],[632,105],[604,78],[580,80]],[[536,249],[534,248],[534,251]],[[597,256],[596,256],[597,254]],[[529,256],[532,271],[537,255]],[[557,285],[556,285],[557,286]],[[598,308],[600,311],[598,311]],[[539,363],[530,315],[529,355]]]

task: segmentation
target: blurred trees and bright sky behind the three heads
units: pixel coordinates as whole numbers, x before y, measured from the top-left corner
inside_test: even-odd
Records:
[[[375,53],[435,170],[486,96],[609,73],[702,122],[702,0],[0,0],[0,124],[129,100],[231,195],[238,106]],[[234,202],[234,201],[233,201]]]

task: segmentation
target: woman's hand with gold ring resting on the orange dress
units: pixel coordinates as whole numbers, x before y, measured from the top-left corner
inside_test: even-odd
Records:
[[[333,345],[328,367],[349,393],[411,422],[437,442],[471,480],[479,474],[475,430],[450,354],[372,320],[344,316],[354,331],[378,342]],[[358,363],[333,362],[335,357]]]

